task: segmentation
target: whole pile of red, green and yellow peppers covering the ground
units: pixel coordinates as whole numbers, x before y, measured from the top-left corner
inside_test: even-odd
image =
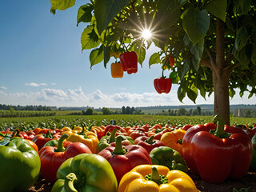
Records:
[[[1,131],[0,192],[29,190],[39,174],[53,192],[197,191],[190,171],[217,184],[256,170],[256,127],[213,121]]]

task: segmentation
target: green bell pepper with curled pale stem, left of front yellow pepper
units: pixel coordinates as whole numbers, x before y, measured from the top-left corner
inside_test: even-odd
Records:
[[[78,154],[58,168],[51,192],[116,192],[117,178],[110,163],[98,154]]]

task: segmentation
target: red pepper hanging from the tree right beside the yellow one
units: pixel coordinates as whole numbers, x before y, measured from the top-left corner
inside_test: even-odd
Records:
[[[138,56],[134,51],[126,52],[120,55],[122,70],[127,71],[127,74],[136,74],[138,71]]]

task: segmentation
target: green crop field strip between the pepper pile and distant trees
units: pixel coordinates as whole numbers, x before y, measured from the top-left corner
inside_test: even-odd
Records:
[[[186,124],[203,124],[212,122],[213,116],[163,116],[163,115],[66,115],[66,116],[50,116],[50,117],[34,117],[34,118],[0,118],[0,130],[7,128],[17,128],[25,126],[25,130],[31,130],[35,127],[40,128],[62,128],[63,126],[106,126],[114,119],[118,126],[142,126],[146,123],[150,125],[160,124],[165,126],[184,126]],[[230,117],[230,125],[244,124],[252,126],[256,123],[255,118],[238,118]]]

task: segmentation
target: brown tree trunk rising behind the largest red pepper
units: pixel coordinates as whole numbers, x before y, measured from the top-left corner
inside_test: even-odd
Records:
[[[214,83],[214,114],[224,118],[230,125],[229,79],[231,70],[226,68],[224,53],[224,23],[217,18],[216,26],[216,61],[212,63]]]

